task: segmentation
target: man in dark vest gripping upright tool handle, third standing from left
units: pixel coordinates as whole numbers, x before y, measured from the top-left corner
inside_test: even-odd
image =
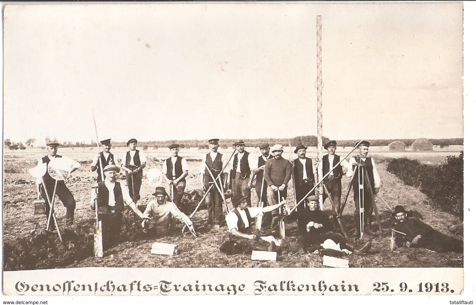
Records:
[[[140,199],[140,186],[142,185],[142,169],[146,167],[147,157],[137,148],[137,140],[131,138],[127,141],[129,150],[122,156],[121,168],[126,172],[126,183],[129,195],[137,203]]]

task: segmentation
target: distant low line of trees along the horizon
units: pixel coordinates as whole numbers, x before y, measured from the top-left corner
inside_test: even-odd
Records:
[[[233,142],[236,139],[220,139],[220,147],[228,148],[231,147]],[[245,141],[246,146],[248,147],[259,147],[259,145],[263,142],[268,142],[269,145],[274,144],[281,144],[283,147],[297,146],[298,144],[302,143],[304,146],[307,147],[317,147],[317,136],[298,136],[294,138],[258,138],[258,139],[242,139]],[[406,147],[410,147],[412,143],[416,139],[364,139],[370,142],[371,146],[388,146],[393,141],[401,141],[405,144]],[[448,147],[449,145],[463,145],[463,138],[442,138],[442,139],[428,139],[433,145],[440,146],[441,148]],[[17,149],[26,149],[32,148],[33,144],[37,140],[34,138],[30,138],[23,142],[13,142],[10,139],[5,139],[3,141],[4,148],[9,148],[10,150],[17,150]],[[45,138],[45,143],[48,141],[58,142],[60,143],[61,147],[96,147],[97,142],[90,141],[90,143],[82,142],[67,142],[58,141],[57,138]],[[326,144],[329,141],[329,138],[322,137],[322,145]],[[353,147],[359,140],[336,140],[337,147]],[[198,149],[207,149],[208,148],[208,140],[166,140],[166,141],[140,141],[138,143],[138,147],[141,147],[143,150],[147,150],[149,148],[157,149],[157,148],[166,148],[169,147],[170,144],[177,143],[180,148],[198,148]],[[114,147],[125,147],[126,142],[112,142]],[[40,147],[45,147],[44,145],[40,145]]]

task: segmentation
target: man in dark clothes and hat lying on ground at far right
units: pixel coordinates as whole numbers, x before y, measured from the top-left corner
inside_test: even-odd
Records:
[[[393,216],[397,219],[395,225],[397,246],[420,247],[436,252],[463,252],[461,240],[436,231],[417,217],[408,217],[404,207],[396,206]]]

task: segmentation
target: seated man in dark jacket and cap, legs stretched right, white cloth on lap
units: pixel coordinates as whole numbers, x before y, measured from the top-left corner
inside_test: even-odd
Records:
[[[303,224],[300,227],[297,237],[297,252],[318,253],[317,250],[333,249],[337,252],[332,256],[341,256],[355,252],[365,254],[372,246],[368,241],[362,245],[347,242],[344,236],[332,232],[333,226],[327,215],[319,210],[319,198],[317,196],[307,197],[307,208],[289,215],[287,220],[296,220]]]

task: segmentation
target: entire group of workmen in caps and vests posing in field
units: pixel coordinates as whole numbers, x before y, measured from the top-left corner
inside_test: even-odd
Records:
[[[97,185],[91,189],[90,207],[92,210],[98,210],[99,220],[102,220],[104,248],[107,249],[119,242],[125,206],[130,207],[143,219],[141,227],[131,236],[131,240],[141,235],[164,236],[175,228],[176,221],[194,230],[188,216],[180,211],[188,176],[188,164],[184,157],[178,156],[179,145],[173,143],[169,146],[171,157],[165,160],[162,168],[163,179],[169,191],[165,187],[156,187],[152,194],[155,198],[147,204],[145,211],[141,212],[137,202],[140,199],[140,187],[147,157],[143,151],[137,149],[137,140],[131,138],[127,142],[129,150],[119,162],[118,158],[110,152],[110,140],[100,141],[102,151],[94,158],[90,166],[90,170],[98,174]],[[260,225],[262,221],[260,228],[263,231],[268,230],[271,234],[278,231],[277,227],[283,219],[283,214],[286,214],[286,209],[281,207],[286,205],[287,188],[292,178],[297,205],[292,213],[289,213],[288,209],[285,217],[288,220],[297,220],[298,238],[295,250],[318,253],[323,248],[328,248],[341,253],[363,254],[371,247],[371,238],[376,233],[372,231],[373,204],[370,199],[377,195],[381,182],[375,161],[368,156],[370,147],[368,141],[357,143],[358,156],[351,157],[349,162],[344,157],[336,155],[336,141],[328,141],[324,145],[327,155],[320,160],[324,176],[322,185],[318,185],[317,164],[313,159],[306,157],[307,147],[303,144],[298,144],[294,150],[298,157],[289,161],[283,157],[284,148],[280,144],[272,147],[268,143],[261,144],[259,146],[261,156],[254,158],[245,150],[246,143],[243,140],[237,140],[233,143],[235,151],[227,160],[218,152],[218,139],[210,139],[208,143],[210,151],[203,157],[199,168],[199,178],[205,191],[209,229],[219,228],[226,223],[229,239],[237,244],[253,250],[284,251],[284,247],[288,246],[286,241],[255,234],[253,223],[258,222],[259,219]],[[48,166],[50,160],[61,157],[57,154],[59,146],[58,143],[48,142],[48,155],[40,158],[38,165],[46,163]],[[228,167],[230,162],[231,166]],[[70,172],[79,167],[78,162],[70,162]],[[356,176],[358,168],[361,167],[365,167],[362,175],[358,175],[357,179],[353,178],[351,181],[356,207],[354,212],[356,230],[352,236],[367,235],[370,239],[363,243],[351,243],[341,234],[343,233],[342,224],[340,224],[341,232],[339,233],[339,217],[342,214],[341,179],[344,175]],[[120,169],[125,172],[125,185],[116,181],[116,173]],[[257,207],[251,207],[253,181],[255,181],[258,197]],[[364,181],[367,184],[366,187],[362,187]],[[52,200],[53,193],[58,196],[66,207],[66,225],[72,225],[76,201],[64,181],[55,181],[46,171],[37,183],[38,196],[45,198],[45,201],[47,201],[47,194],[50,197],[49,201]],[[228,187],[231,188],[233,205],[231,210],[225,198]],[[319,209],[319,193],[323,194],[324,201],[329,198],[331,202],[332,220],[329,220],[329,217]],[[224,204],[227,213],[225,219]],[[46,215],[48,215],[49,205],[45,204],[45,206]],[[444,236],[421,221],[416,222],[413,217],[402,217],[401,213],[405,214],[406,211],[404,209],[402,211],[403,207],[400,207],[396,207],[394,214],[399,226],[397,231],[401,233],[397,240],[399,246],[429,248],[428,245],[448,243],[449,236]],[[50,222],[50,227],[53,227],[52,219]],[[407,228],[407,224],[412,223],[412,229],[405,230],[400,227],[402,223]],[[451,245],[450,249],[436,247],[436,250],[462,251],[462,243],[458,243],[456,239],[451,239]]]

